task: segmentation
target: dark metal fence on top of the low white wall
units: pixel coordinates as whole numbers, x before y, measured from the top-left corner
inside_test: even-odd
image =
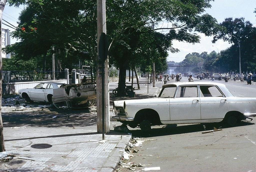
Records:
[[[3,83],[28,82],[28,81],[49,81],[55,79],[64,79],[64,71],[3,71]]]

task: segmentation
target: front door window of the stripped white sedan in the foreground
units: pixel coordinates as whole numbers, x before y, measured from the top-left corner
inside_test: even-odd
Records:
[[[198,97],[197,86],[180,86],[176,94],[178,97]]]

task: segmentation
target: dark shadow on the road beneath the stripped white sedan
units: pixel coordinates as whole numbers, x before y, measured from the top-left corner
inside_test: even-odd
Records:
[[[246,126],[246,125],[254,125],[255,123],[241,121],[239,125],[236,127]],[[150,133],[143,133],[142,130],[130,130],[133,137],[156,137],[156,136],[165,136],[165,135],[175,135],[175,134],[185,134],[185,133],[193,133],[193,132],[203,132],[205,125],[206,131],[213,130],[214,127],[218,129],[230,128],[226,126],[221,126],[219,123],[201,123],[201,124],[191,124],[191,125],[182,125],[177,126],[176,124],[164,125],[163,128],[153,128]]]

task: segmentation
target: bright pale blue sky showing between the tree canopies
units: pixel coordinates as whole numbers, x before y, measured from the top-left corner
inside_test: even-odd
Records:
[[[205,11],[212,17],[216,18],[218,23],[221,23],[225,20],[225,18],[228,17],[244,17],[245,20],[250,21],[254,26],[256,26],[256,14],[253,13],[256,8],[256,0],[215,0],[211,2],[211,5],[212,7],[209,9],[205,9]],[[23,8],[23,6],[18,8],[10,7],[7,4],[4,8],[3,19],[14,26],[18,26],[17,21],[19,13],[22,11]],[[3,21],[3,23],[7,24],[5,21]],[[5,29],[10,29],[10,31],[14,30],[5,25],[3,25],[2,27]],[[196,43],[194,45],[186,42],[173,41],[173,47],[178,48],[180,52],[169,52],[167,60],[180,62],[185,59],[185,56],[188,53],[201,53],[204,51],[208,53],[210,53],[211,51],[220,52],[221,50],[225,50],[231,46],[228,42],[224,42],[222,40],[218,40],[216,43],[213,44],[211,43],[212,37],[206,37],[204,36],[204,34],[201,33],[198,33],[198,35],[201,37],[201,41],[200,43]],[[17,40],[11,38],[11,44],[15,42],[17,42]]]

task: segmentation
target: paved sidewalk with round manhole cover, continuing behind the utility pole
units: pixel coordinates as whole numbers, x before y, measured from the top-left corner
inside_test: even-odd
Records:
[[[159,90],[150,84],[147,94],[146,78],[140,78],[140,83],[141,89],[135,89],[136,97],[132,98],[112,95],[118,83],[110,83],[110,101],[151,98]],[[97,113],[93,108],[92,111],[50,108],[3,110],[5,147],[13,159],[7,162],[0,160],[0,171],[114,171],[131,135],[113,131],[116,123],[110,121],[111,132],[105,134],[105,142],[101,142],[102,134],[97,133]],[[113,116],[112,111],[110,116]]]

